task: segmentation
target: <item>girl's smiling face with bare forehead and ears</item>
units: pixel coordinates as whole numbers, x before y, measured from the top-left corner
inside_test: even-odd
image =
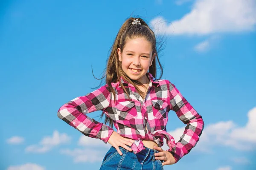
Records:
[[[126,40],[123,51],[117,49],[122,69],[130,79],[147,83],[146,73],[156,54],[152,55],[152,45],[144,38]]]

